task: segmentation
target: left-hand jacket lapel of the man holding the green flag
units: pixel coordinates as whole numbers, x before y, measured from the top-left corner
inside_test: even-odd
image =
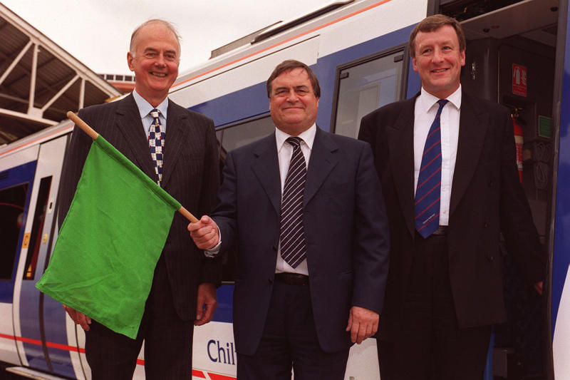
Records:
[[[275,134],[259,140],[253,150],[252,170],[269,197],[277,216],[281,215],[281,178]]]

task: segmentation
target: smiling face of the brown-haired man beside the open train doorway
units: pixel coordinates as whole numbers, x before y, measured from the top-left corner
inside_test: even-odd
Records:
[[[460,51],[455,29],[444,25],[435,31],[420,31],[415,36],[414,71],[422,87],[437,98],[447,98],[459,88],[465,50]]]

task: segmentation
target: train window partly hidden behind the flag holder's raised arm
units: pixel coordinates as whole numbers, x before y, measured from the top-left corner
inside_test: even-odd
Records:
[[[219,146],[220,170],[224,168],[226,155],[230,150],[259,140],[259,138],[272,133],[273,130],[273,121],[269,115],[219,128],[216,131],[216,137]],[[234,244],[222,257],[222,282],[224,284],[233,284],[236,262],[237,245]]]

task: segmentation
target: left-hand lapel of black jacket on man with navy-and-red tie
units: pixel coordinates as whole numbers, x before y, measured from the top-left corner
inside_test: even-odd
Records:
[[[398,201],[405,224],[412,237],[414,227],[414,108],[415,99],[403,103],[400,115],[393,125],[386,127],[390,155],[390,173],[393,175]]]

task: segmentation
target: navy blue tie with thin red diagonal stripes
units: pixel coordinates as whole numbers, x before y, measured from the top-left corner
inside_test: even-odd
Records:
[[[418,187],[415,188],[415,229],[424,238],[440,227],[440,197],[441,197],[441,124],[440,116],[446,99],[437,101],[440,108],[427,133],[423,148],[422,165],[418,177]]]

